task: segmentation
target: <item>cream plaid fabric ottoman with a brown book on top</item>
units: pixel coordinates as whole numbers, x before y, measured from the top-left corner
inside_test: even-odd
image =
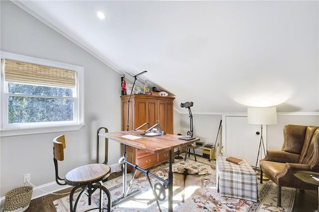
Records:
[[[248,201],[259,200],[257,175],[247,160],[240,165],[226,161],[226,157],[216,159],[216,188],[220,196]]]

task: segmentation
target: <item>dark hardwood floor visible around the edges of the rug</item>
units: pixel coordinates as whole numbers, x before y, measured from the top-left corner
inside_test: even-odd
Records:
[[[113,173],[109,176],[109,180],[122,175],[120,172]],[[56,193],[66,193],[70,189],[62,190]],[[56,212],[53,201],[67,195],[46,195],[32,200],[29,208],[25,212]],[[318,208],[318,191],[305,190],[300,192],[297,190],[294,212],[315,212]]]

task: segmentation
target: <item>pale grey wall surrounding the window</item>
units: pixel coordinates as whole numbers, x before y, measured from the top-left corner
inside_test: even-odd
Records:
[[[66,136],[67,170],[96,160],[96,130],[121,130],[120,75],[95,57],[26,13],[10,1],[1,4],[1,51],[84,67],[85,126],[77,131],[0,137],[0,197],[23,186],[22,175],[30,173],[34,185],[55,180],[52,138]],[[104,140],[104,139],[103,139]],[[120,145],[109,142],[109,164],[117,163]]]

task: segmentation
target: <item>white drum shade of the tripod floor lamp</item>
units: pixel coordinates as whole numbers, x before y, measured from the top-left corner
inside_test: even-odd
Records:
[[[276,124],[276,107],[248,107],[247,121],[249,124]]]

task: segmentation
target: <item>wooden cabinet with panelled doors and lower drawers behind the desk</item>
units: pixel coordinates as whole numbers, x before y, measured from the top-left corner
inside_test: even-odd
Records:
[[[122,130],[127,130],[128,100],[129,95],[121,96],[122,100]],[[145,122],[150,126],[160,123],[162,131],[173,134],[173,100],[172,97],[132,95],[129,105],[129,130],[133,130]],[[146,130],[147,126],[141,128]],[[123,154],[123,145],[121,145]],[[126,147],[127,160],[143,169],[156,166],[169,159],[169,151],[152,154],[130,146]],[[173,159],[173,155],[172,155]],[[134,171],[128,166],[129,171]],[[137,172],[136,177],[141,173]]]

